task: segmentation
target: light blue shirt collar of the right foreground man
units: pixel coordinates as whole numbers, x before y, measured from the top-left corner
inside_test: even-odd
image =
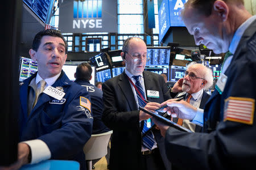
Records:
[[[251,16],[251,18],[247,19],[244,23],[242,23],[242,25],[240,25],[240,27],[238,27],[237,31],[234,33],[231,44],[229,45],[229,51],[232,54],[236,52],[238,43],[240,42],[243,33],[249,27],[249,25],[254,22],[255,19],[256,19],[256,15]]]

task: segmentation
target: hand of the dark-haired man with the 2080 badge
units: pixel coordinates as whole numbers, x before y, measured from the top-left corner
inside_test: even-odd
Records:
[[[28,163],[28,155],[30,154],[30,147],[26,143],[18,144],[18,160],[9,167],[0,167],[0,170],[16,170],[22,165]]]

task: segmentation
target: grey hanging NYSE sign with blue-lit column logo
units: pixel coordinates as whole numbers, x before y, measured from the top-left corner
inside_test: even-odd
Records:
[[[117,0],[61,1],[61,32],[117,32]]]

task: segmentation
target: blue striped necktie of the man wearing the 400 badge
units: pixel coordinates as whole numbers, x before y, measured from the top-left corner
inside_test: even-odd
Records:
[[[143,99],[144,99],[144,91],[143,91],[143,88],[141,86],[141,83],[139,83],[139,76],[140,75],[134,75],[133,78],[136,80],[136,83],[135,83],[135,86],[138,88],[138,91],[141,93]],[[144,102],[144,100],[141,98],[141,96],[139,95],[139,93],[136,91],[136,94],[137,94],[137,99],[138,99],[138,104],[140,107],[144,107],[146,105],[146,103]],[[150,128],[150,127],[149,127]],[[147,120],[144,120],[144,125],[143,125],[143,129],[142,129],[142,133],[146,133],[146,131],[148,131],[149,129],[147,127]],[[143,138],[142,138],[142,146],[144,148],[148,148],[149,150],[152,149],[152,147],[154,146],[154,137],[153,137],[153,134],[152,134],[152,131],[149,131],[147,133],[147,135],[145,135]]]

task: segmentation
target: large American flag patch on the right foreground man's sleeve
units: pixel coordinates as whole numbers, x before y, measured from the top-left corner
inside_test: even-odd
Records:
[[[224,121],[235,121],[252,125],[255,100],[244,97],[229,97],[225,100]]]

